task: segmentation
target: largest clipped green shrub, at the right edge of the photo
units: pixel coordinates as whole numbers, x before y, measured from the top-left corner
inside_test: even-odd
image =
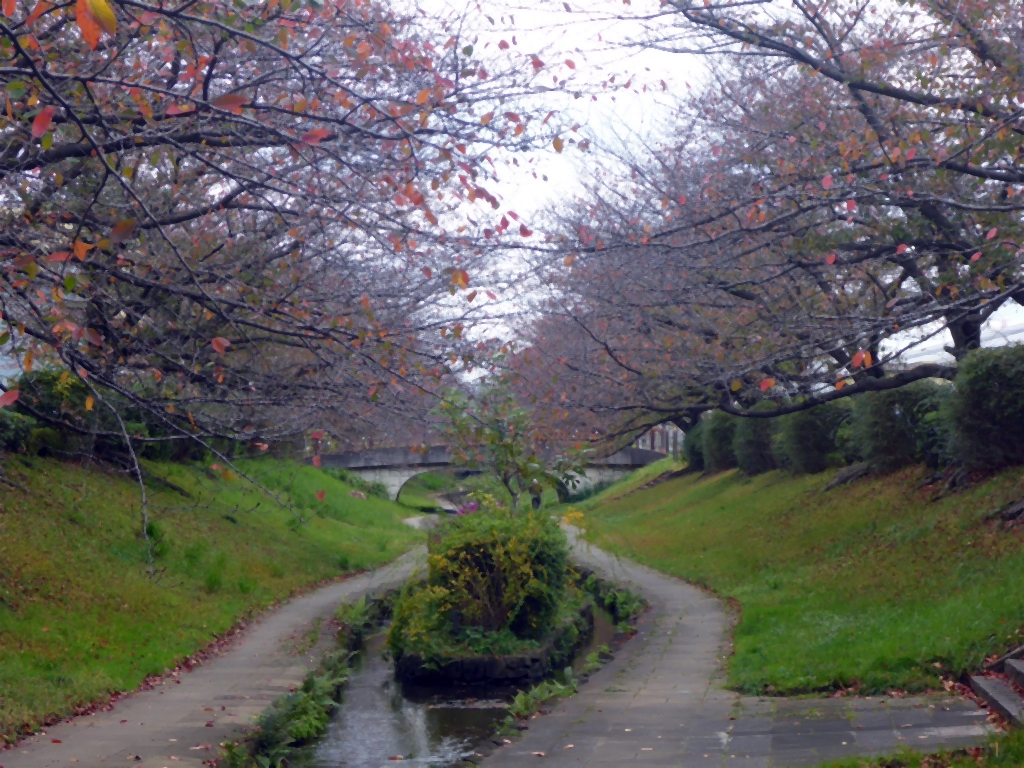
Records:
[[[945,412],[953,451],[966,466],[995,469],[1024,462],[1024,345],[968,354]]]

